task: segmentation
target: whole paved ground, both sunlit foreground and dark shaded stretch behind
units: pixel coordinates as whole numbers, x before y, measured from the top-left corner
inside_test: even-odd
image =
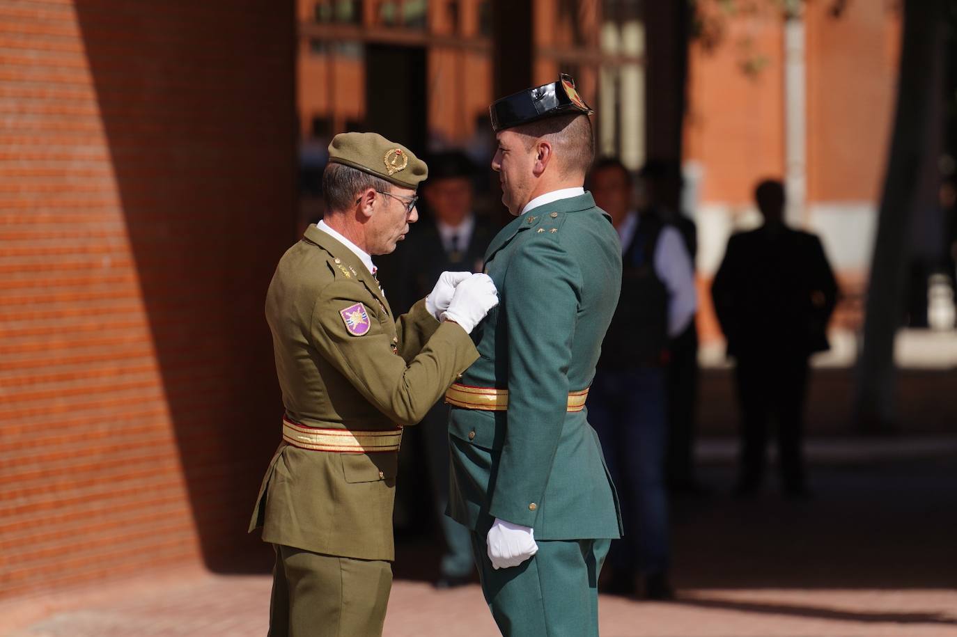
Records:
[[[603,596],[601,634],[957,637],[957,455],[949,443],[912,443],[901,441],[908,451],[893,459],[842,461],[830,449],[818,456],[809,502],[773,492],[732,500],[723,495],[731,468],[705,467],[717,494],[674,507],[679,599]],[[417,560],[434,563],[432,540],[400,545],[387,636],[498,634],[478,586],[437,592],[422,581],[429,573],[412,567]],[[264,574],[167,571],[0,605],[0,634],[261,636],[269,587]]]

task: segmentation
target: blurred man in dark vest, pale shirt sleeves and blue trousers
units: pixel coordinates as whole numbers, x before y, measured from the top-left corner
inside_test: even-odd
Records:
[[[645,598],[667,599],[667,363],[669,344],[695,316],[694,267],[674,226],[654,208],[634,209],[631,175],[618,159],[594,165],[590,188],[595,204],[612,216],[623,268],[589,398],[589,419],[618,488],[625,527],[623,538],[612,542],[606,590],[633,595],[640,573]]]

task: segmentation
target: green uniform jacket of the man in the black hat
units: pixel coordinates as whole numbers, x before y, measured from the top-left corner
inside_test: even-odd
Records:
[[[525,211],[489,246],[500,303],[473,332],[480,358],[460,383],[507,389],[508,408],[450,412],[449,514],[469,528],[487,531],[500,517],[533,527],[536,540],[620,537],[588,411],[568,411],[568,392],[591,383],[612,321],[619,245],[586,192]]]

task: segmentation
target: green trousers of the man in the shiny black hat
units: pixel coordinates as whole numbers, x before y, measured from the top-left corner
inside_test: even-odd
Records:
[[[472,549],[504,637],[598,637],[598,574],[611,539],[539,539],[531,560],[496,570],[485,535],[472,533]]]

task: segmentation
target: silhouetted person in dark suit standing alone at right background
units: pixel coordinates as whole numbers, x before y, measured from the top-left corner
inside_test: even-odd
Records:
[[[816,235],[784,223],[784,187],[755,189],[765,224],[733,235],[711,289],[715,310],[736,360],[741,405],[737,494],[754,494],[765,472],[768,418],[777,420],[784,493],[806,495],[803,457],[808,359],[830,348],[825,330],[837,285]]]

